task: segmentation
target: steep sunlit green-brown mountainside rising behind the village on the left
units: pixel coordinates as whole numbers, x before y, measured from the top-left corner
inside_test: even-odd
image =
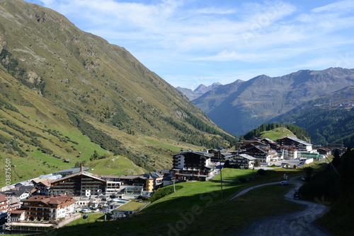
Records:
[[[60,158],[89,162],[93,150],[166,168],[166,143],[233,139],[127,50],[42,6],[0,1],[0,63],[1,156],[56,159],[43,172]]]

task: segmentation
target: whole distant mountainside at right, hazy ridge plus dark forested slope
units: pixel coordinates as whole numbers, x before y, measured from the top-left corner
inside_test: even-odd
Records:
[[[354,69],[302,70],[257,76],[207,91],[193,103],[235,135],[264,123],[296,124],[315,144],[354,145]]]

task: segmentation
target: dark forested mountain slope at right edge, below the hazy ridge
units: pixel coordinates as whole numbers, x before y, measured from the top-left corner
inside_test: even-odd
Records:
[[[303,127],[316,144],[354,146],[354,86],[305,102],[272,121]]]

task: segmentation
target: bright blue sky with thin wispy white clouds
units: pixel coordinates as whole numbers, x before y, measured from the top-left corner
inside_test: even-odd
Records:
[[[354,68],[354,0],[26,0],[125,47],[171,85]]]

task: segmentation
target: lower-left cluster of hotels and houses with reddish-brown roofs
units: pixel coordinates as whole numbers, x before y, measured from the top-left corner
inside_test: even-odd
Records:
[[[0,190],[0,225],[11,233],[32,233],[59,228],[80,218],[79,208],[109,211],[128,199],[153,193],[171,182],[169,170],[143,175],[95,175],[88,167],[41,175]],[[9,217],[8,217],[9,216]],[[11,220],[8,220],[10,218]]]

